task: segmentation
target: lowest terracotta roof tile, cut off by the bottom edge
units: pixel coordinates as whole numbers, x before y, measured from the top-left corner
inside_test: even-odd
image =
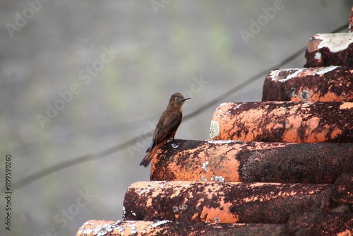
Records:
[[[94,232],[94,233],[93,233]],[[161,221],[89,220],[77,232],[86,235],[286,235],[287,225],[218,224]]]

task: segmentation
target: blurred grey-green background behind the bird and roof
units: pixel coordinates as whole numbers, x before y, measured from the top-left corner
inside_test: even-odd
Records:
[[[15,187],[57,163],[151,134],[172,93],[192,97],[183,107],[190,114],[312,35],[348,23],[352,8],[283,0],[271,11],[280,2],[1,1],[0,187],[6,154]],[[244,32],[253,33],[244,40]],[[303,53],[285,67],[304,62]],[[221,102],[260,101],[264,79]],[[219,103],[182,122],[176,138],[207,139]],[[49,107],[58,109],[48,115]],[[75,235],[86,220],[121,220],[126,188],[149,179],[150,167],[138,165],[149,144],[138,138],[13,189],[11,232],[2,189],[0,234]]]

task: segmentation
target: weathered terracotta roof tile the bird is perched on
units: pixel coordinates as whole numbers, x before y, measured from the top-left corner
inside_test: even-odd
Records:
[[[353,143],[177,140],[152,161],[152,181],[334,184],[353,172]],[[353,191],[352,191],[353,192]]]

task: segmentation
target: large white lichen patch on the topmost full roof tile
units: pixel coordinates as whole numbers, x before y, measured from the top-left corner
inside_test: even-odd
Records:
[[[318,44],[318,49],[327,47],[330,52],[341,52],[349,47],[353,42],[352,33],[331,33],[331,34],[317,34],[315,39],[321,40]]]

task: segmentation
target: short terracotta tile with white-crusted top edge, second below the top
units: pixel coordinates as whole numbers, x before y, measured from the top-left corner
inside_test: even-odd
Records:
[[[353,102],[352,77],[353,69],[341,66],[273,70],[265,78],[262,100]]]

